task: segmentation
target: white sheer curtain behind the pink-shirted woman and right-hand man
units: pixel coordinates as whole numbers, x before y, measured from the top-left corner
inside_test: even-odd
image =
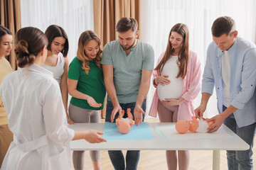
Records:
[[[202,70],[206,61],[206,50],[212,41],[210,28],[219,16],[231,16],[237,23],[238,34],[255,42],[256,2],[254,0],[142,0],[142,40],[153,46],[155,64],[164,52],[169,31],[176,23],[186,23],[190,31],[190,49],[198,53]],[[155,88],[151,86],[148,94],[149,109]],[[201,94],[196,99],[200,104]],[[210,98],[206,117],[218,113],[216,96]]]

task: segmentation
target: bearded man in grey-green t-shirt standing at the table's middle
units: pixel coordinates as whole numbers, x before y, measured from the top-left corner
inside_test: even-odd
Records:
[[[108,42],[102,52],[102,69],[107,89],[106,122],[114,122],[118,114],[131,108],[135,124],[144,120],[146,94],[154,69],[154,50],[138,40],[138,23],[134,18],[121,18],[117,23],[118,40]],[[114,169],[137,169],[139,151],[108,151]]]

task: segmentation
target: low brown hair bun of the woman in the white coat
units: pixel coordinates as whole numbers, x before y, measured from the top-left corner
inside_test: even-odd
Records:
[[[35,60],[35,56],[29,54],[28,42],[26,42],[26,40],[18,41],[18,44],[15,47],[15,53],[18,67],[25,67],[26,64],[31,64]]]

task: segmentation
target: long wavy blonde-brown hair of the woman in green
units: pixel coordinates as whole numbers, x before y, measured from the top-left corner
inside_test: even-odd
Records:
[[[95,62],[97,67],[102,69],[102,64],[100,64],[100,61],[101,61],[100,55],[102,53],[102,50],[100,49],[100,38],[98,38],[96,33],[94,33],[92,30],[86,30],[85,32],[83,32],[80,35],[80,38],[78,40],[78,52],[77,52],[78,60],[80,60],[82,62],[81,67],[85,71],[86,74],[88,74],[90,71],[90,67],[89,67],[90,59],[89,59],[89,57],[86,56],[84,47],[85,47],[85,45],[87,45],[87,43],[90,40],[96,40],[99,45],[99,52],[97,52],[97,55],[93,59],[93,62]]]

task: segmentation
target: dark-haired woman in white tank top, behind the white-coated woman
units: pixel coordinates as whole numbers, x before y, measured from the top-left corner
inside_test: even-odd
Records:
[[[68,123],[75,124],[68,115],[68,35],[56,25],[48,26],[45,34],[48,38],[48,53],[42,67],[53,72],[54,79],[60,84]]]

